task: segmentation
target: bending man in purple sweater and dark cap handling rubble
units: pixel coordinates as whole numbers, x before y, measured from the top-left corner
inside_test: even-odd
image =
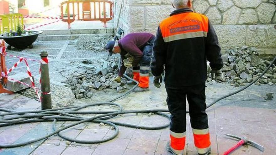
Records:
[[[123,60],[114,81],[121,82],[126,68],[132,67],[133,79],[139,82],[138,87],[133,91],[149,91],[149,70],[154,39],[154,35],[150,33],[131,33],[119,41],[111,40],[107,43],[105,49],[109,51],[109,55],[119,53]],[[128,81],[127,85],[136,85],[136,83]]]

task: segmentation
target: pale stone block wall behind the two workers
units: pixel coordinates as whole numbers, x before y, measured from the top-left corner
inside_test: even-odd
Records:
[[[121,3],[115,1],[115,25]],[[193,9],[208,16],[222,48],[247,45],[276,54],[276,0],[193,0]],[[173,10],[171,0],[124,0],[119,26],[126,34],[156,34],[160,21]]]

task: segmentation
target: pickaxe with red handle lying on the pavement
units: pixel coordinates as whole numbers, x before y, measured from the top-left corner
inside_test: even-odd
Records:
[[[264,151],[264,147],[263,146],[261,146],[260,144],[258,144],[256,142],[248,140],[247,137],[240,138],[240,137],[229,135],[229,134],[225,134],[225,135],[228,136],[228,137],[235,138],[235,139],[240,140],[240,141],[235,146],[233,146],[232,148],[230,148],[229,150],[227,150],[226,152],[224,152],[223,155],[230,154],[232,151],[234,151],[236,148],[240,147],[243,144],[249,144],[249,145],[251,145],[253,147],[256,147],[257,149],[259,149],[261,151]]]

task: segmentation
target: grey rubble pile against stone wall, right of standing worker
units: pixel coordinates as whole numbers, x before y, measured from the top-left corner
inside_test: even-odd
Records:
[[[239,47],[226,50],[222,55],[224,66],[221,69],[227,82],[239,87],[244,83],[252,82],[270,65],[270,62],[261,59],[258,51],[254,47]],[[276,68],[272,65],[265,75],[263,75],[255,85],[268,84],[276,85]]]

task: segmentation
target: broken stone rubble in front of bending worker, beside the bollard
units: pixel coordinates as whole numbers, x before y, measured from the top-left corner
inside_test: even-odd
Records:
[[[83,63],[87,64],[88,60]],[[114,56],[109,61],[104,61],[102,68],[79,66],[73,70],[63,70],[60,72],[67,79],[69,87],[75,97],[91,98],[94,93],[104,89],[116,89],[118,93],[126,89],[127,79],[122,78],[121,83],[112,81],[118,75],[118,56]]]

